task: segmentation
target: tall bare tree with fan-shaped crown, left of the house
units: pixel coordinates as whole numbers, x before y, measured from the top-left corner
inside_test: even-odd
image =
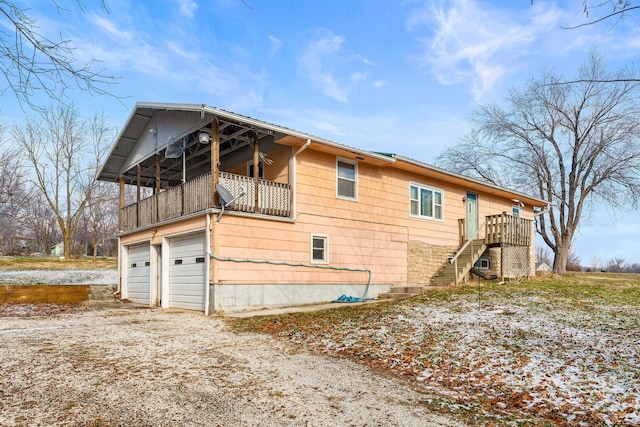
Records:
[[[95,182],[95,145],[105,147],[108,133],[83,120],[73,106],[59,105],[15,126],[15,140],[24,150],[33,173],[33,184],[56,217],[64,242],[64,256],[71,254],[73,237],[91,200]],[[104,150],[102,150],[103,152]]]

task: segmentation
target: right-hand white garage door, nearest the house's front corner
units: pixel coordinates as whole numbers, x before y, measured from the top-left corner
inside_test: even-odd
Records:
[[[169,241],[169,306],[204,311],[204,233],[174,237]]]

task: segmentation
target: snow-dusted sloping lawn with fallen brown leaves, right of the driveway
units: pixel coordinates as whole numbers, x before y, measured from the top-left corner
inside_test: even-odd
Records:
[[[229,319],[437,392],[477,425],[640,425],[640,275],[568,274]],[[347,373],[348,375],[348,373]]]

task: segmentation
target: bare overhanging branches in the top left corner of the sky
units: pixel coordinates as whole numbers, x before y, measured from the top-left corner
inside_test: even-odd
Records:
[[[117,81],[106,74],[97,60],[77,64],[71,41],[60,36],[51,40],[42,34],[38,22],[16,2],[0,0],[0,74],[21,105],[38,108],[33,96],[44,92],[50,99],[63,101],[67,91],[79,89],[92,95],[111,94]],[[59,13],[64,9],[52,3]],[[102,8],[106,11],[104,0]],[[80,0],[77,5],[84,10]],[[8,30],[8,31],[7,31]]]

